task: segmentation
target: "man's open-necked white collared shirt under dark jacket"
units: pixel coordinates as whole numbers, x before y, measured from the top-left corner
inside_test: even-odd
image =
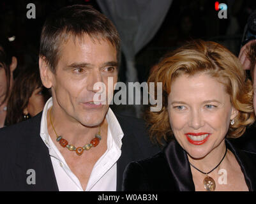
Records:
[[[59,191],[83,191],[82,185],[75,174],[70,170],[64,157],[57,149],[49,136],[47,129],[47,110],[52,106],[50,98],[43,108],[41,117],[40,136],[49,148],[50,159],[54,168]],[[87,182],[86,191],[116,191],[117,182],[117,160],[121,156],[123,131],[116,116],[109,108],[106,115],[107,151],[94,164],[93,170]]]

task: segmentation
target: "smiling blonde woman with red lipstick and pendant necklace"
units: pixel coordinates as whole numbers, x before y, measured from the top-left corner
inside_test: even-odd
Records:
[[[163,83],[163,108],[147,112],[154,157],[124,171],[124,191],[255,191],[256,154],[237,149],[254,121],[252,84],[236,56],[210,41],[166,55],[149,82]]]

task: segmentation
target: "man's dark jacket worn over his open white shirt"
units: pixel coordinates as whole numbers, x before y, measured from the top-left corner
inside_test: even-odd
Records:
[[[41,115],[0,129],[0,191],[58,191],[49,149],[40,137]],[[142,120],[116,117],[124,133],[117,161],[117,191],[121,191],[126,165],[153,156],[159,149],[149,142]],[[31,169],[36,184],[27,184]]]

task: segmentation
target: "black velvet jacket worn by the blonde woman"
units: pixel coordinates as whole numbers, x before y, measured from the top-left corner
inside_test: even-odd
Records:
[[[241,166],[249,191],[255,191],[256,154],[237,149],[229,140],[225,142]],[[122,190],[195,191],[186,152],[173,140],[156,156],[133,161],[124,170]]]

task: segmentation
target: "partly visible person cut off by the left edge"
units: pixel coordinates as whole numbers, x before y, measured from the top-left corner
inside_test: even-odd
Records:
[[[13,54],[10,42],[0,36],[0,128],[3,128],[7,103],[13,86],[13,71],[17,67],[17,58]]]

